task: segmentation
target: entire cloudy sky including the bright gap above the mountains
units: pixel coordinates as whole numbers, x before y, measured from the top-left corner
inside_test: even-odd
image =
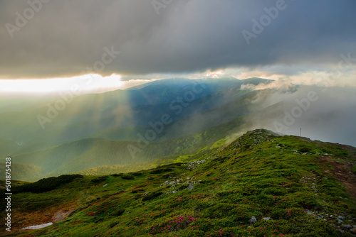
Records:
[[[86,4],[0,3],[0,94],[68,91],[54,81],[73,84],[88,75],[98,75],[85,84],[88,93],[172,77],[356,87],[351,0],[94,1],[108,13],[95,21],[87,17],[93,10]]]

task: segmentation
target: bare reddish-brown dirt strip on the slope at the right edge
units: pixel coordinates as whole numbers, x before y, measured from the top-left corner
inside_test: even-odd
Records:
[[[336,162],[330,156],[321,156],[322,165],[330,164],[334,170],[325,170],[328,175],[334,176],[350,192],[351,196],[356,199],[356,175],[351,172],[352,164],[348,162]]]

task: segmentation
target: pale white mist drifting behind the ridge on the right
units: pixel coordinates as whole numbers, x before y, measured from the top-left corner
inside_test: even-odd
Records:
[[[299,86],[290,92],[276,82],[270,90],[258,92],[253,111],[244,119],[253,128],[267,128],[283,134],[356,145],[355,88]],[[314,97],[308,97],[313,93]],[[312,98],[312,100],[310,100]]]

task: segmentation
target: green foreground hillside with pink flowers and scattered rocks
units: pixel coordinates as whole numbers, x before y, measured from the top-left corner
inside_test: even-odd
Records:
[[[355,164],[349,146],[251,131],[199,161],[14,194],[12,236],[352,236]]]

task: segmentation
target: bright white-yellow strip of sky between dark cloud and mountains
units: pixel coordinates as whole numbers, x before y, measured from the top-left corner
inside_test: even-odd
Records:
[[[112,74],[108,77],[103,77],[96,74],[81,75],[77,77],[63,77],[53,79],[0,79],[0,97],[52,97],[57,96],[59,92],[73,92],[75,87],[75,95],[81,94],[98,94],[110,92],[117,89],[127,89],[135,87],[147,82],[153,82],[159,79],[167,79],[173,77],[185,77],[188,79],[206,79],[221,77],[235,77],[237,79],[246,79],[249,77],[261,77],[265,79],[273,79],[275,81],[290,82],[293,84],[315,84],[318,86],[340,86],[340,87],[356,87],[355,83],[355,67],[348,70],[300,70],[298,74],[288,75],[288,67],[278,70],[268,70],[261,68],[260,70],[248,70],[246,68],[227,68],[216,71],[206,70],[205,72],[192,73],[186,75],[142,75],[135,76],[127,80],[122,80],[120,75]],[[282,72],[282,71],[285,72]],[[279,71],[279,72],[278,72]],[[332,78],[333,72],[342,72],[340,77]],[[337,74],[336,74],[337,75]]]

